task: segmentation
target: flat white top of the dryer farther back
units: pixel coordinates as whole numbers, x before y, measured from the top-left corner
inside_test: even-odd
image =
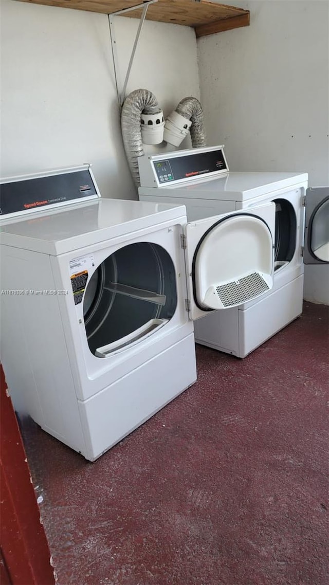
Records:
[[[161,187],[152,189],[152,191],[157,191],[157,195],[161,197],[174,197],[176,194],[174,195],[173,191],[177,190],[181,197],[186,198],[245,201],[272,191],[305,183],[307,179],[307,173],[237,173],[229,171],[222,177],[198,179],[189,184]]]

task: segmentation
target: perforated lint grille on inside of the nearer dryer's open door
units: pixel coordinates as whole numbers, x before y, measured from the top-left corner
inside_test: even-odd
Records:
[[[216,287],[216,290],[224,307],[231,307],[258,297],[262,292],[268,291],[269,286],[261,274],[253,272],[239,280],[222,284]]]

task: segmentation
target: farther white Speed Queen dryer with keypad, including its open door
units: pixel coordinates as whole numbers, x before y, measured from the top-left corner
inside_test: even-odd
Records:
[[[276,207],[272,290],[200,319],[194,327],[197,343],[245,357],[301,314],[304,263],[328,260],[328,188],[307,190],[307,173],[229,171],[222,146],[146,155],[138,163],[140,201],[184,204],[188,221],[252,211],[265,202]],[[313,243],[304,236],[306,205]]]

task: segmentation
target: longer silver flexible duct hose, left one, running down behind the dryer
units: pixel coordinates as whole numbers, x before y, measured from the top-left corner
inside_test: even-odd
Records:
[[[155,95],[148,90],[135,90],[129,94],[124,102],[121,113],[121,129],[124,139],[126,157],[128,159],[132,178],[139,187],[138,157],[143,156],[142,130],[140,129],[140,115],[152,115],[161,111]]]

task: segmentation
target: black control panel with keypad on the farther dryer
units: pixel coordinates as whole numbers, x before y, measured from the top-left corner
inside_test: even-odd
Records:
[[[159,160],[154,163],[154,167],[161,184],[200,175],[204,177],[227,169],[221,149]]]

